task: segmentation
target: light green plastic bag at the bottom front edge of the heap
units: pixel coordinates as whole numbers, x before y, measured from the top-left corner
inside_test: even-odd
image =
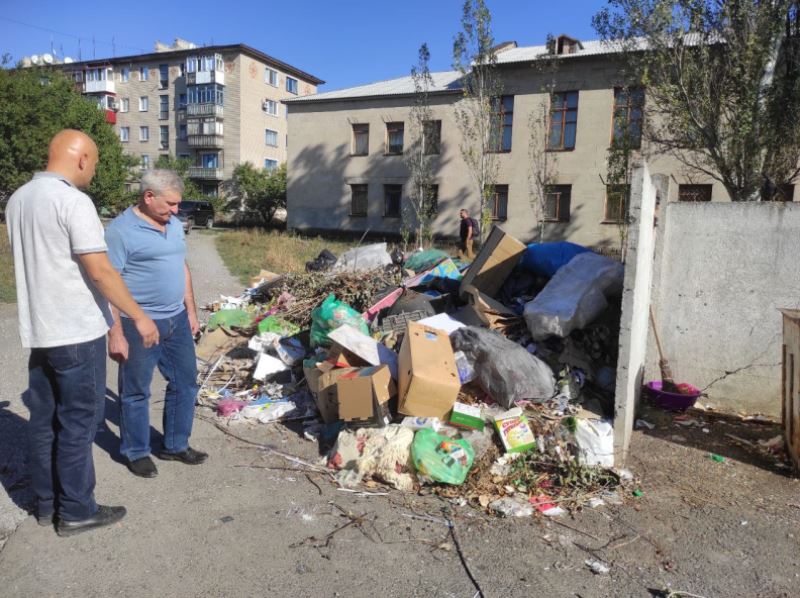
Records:
[[[411,458],[420,481],[458,486],[467,479],[475,451],[466,440],[453,440],[430,428],[422,428],[411,443]]]

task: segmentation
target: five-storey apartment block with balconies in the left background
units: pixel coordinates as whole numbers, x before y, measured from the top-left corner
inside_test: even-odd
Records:
[[[244,44],[156,44],[151,54],[61,65],[97,101],[125,153],[143,169],[159,156],[188,158],[203,193],[217,195],[240,163],[276,168],[286,161],[287,113],[281,101],[324,83]]]

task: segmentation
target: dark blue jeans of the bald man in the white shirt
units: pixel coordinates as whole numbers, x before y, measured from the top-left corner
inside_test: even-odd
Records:
[[[106,390],[106,339],[31,350],[28,360],[31,484],[38,515],[64,521],[97,512],[92,444]]]

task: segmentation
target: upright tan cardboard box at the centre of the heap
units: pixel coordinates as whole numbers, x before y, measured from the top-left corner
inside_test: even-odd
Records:
[[[400,413],[447,419],[461,389],[447,333],[409,322],[400,348],[398,376]]]

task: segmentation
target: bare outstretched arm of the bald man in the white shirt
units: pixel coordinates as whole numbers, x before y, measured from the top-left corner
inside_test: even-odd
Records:
[[[80,253],[78,259],[84,270],[89,275],[97,290],[103,297],[108,299],[113,307],[126,313],[136,325],[136,330],[142,336],[145,347],[152,347],[158,344],[158,328],[155,322],[148,318],[139,307],[139,304],[131,297],[131,293],[122,277],[111,265],[108,255],[104,251],[95,253]],[[115,314],[114,324],[118,325],[119,313]]]

